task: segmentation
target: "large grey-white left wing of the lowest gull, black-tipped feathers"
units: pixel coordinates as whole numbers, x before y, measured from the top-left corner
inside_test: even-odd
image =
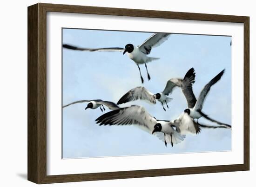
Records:
[[[137,105],[112,110],[101,115],[95,121],[100,125],[139,125],[151,132],[157,123],[153,116],[148,114],[143,107]]]

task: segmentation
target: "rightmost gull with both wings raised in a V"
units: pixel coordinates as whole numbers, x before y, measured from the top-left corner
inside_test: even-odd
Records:
[[[220,125],[225,125],[227,127],[231,127],[230,125],[228,124],[225,124],[225,123],[221,123],[221,122],[218,122],[212,118],[210,118],[209,116],[205,115],[203,112],[202,112],[202,107],[203,107],[203,103],[204,103],[204,100],[206,98],[206,96],[208,95],[209,93],[209,90],[211,88],[212,85],[216,84],[216,82],[218,82],[222,75],[224,74],[224,70],[222,70],[218,75],[216,75],[208,84],[206,84],[204,86],[204,88],[202,89],[199,97],[198,97],[198,100],[196,100],[195,98],[195,95],[193,93],[193,88],[192,88],[192,85],[186,85],[185,87],[183,87],[183,93],[187,99],[187,103],[188,103],[188,108],[186,110],[184,110],[185,113],[187,113],[190,117],[192,117],[193,119],[197,119],[197,122],[198,122],[198,119],[200,117],[204,117],[214,123],[217,123],[217,124],[220,124]]]

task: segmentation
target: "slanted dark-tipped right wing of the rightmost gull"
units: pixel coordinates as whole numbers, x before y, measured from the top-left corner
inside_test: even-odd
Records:
[[[197,99],[197,102],[195,103],[195,107],[194,107],[195,110],[202,110],[203,103],[205,101],[206,96],[209,93],[209,90],[210,90],[211,86],[214,85],[216,82],[218,82],[221,79],[221,77],[224,74],[224,72],[225,72],[225,69],[222,70],[218,75],[216,75],[213,79],[211,79],[208,84],[206,84],[204,86],[204,88],[200,92],[200,95],[199,95],[199,97]]]

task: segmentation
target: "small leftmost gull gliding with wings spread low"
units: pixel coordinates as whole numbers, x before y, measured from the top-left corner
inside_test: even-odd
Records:
[[[100,109],[101,109],[101,106],[102,106],[103,110],[106,110],[104,108],[104,105],[107,106],[110,110],[119,109],[119,106],[117,106],[115,103],[110,102],[110,101],[102,101],[101,99],[75,101],[75,102],[64,105],[62,108],[65,108],[65,107],[67,107],[71,104],[87,103],[87,102],[89,102],[89,103],[87,104],[87,107],[85,108],[85,110],[87,110],[87,109],[97,109],[98,107],[100,107]],[[103,110],[101,109],[101,112],[103,112]]]

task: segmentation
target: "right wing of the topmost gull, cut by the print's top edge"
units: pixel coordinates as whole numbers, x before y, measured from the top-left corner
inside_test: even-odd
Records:
[[[164,41],[168,39],[170,33],[155,33],[149,37],[143,44],[139,46],[141,52],[149,54],[152,47],[157,47],[161,45]]]

